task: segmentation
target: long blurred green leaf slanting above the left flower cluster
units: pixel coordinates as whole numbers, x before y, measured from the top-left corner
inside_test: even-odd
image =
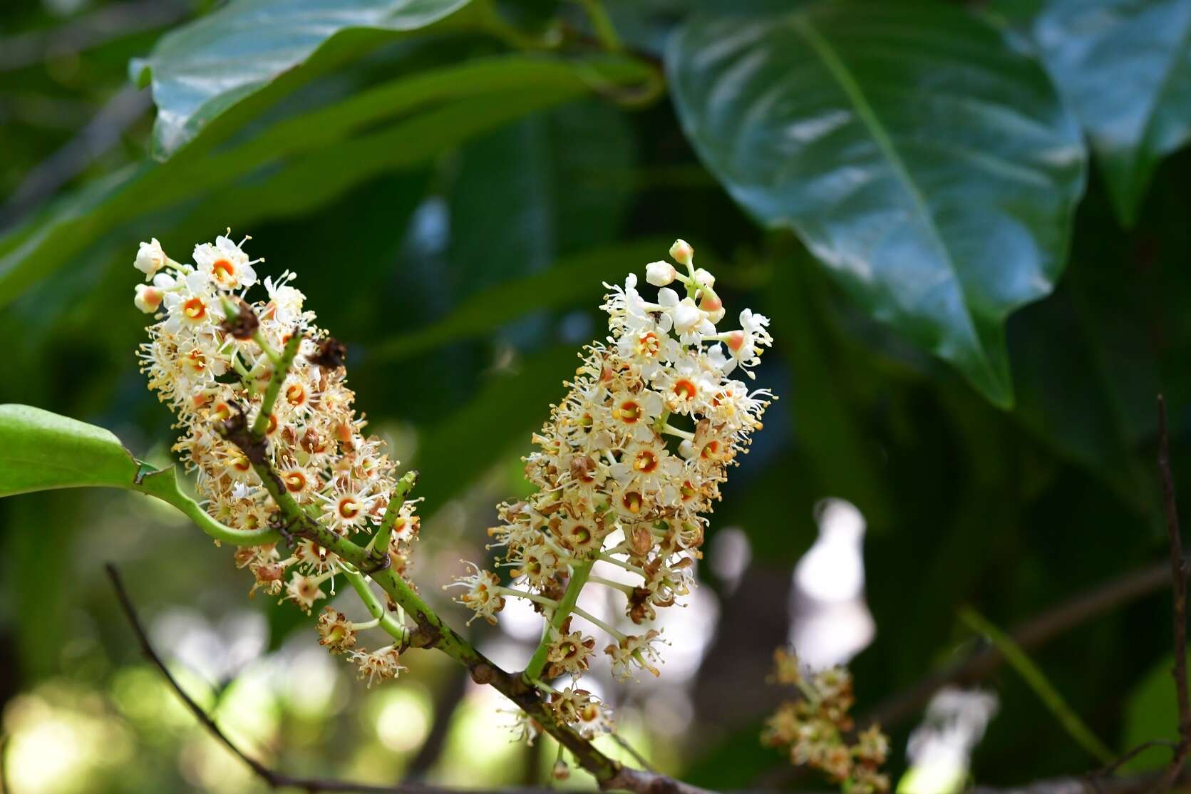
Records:
[[[149,212],[208,194],[251,219],[297,212],[373,174],[424,162],[519,115],[585,95],[592,80],[625,85],[644,74],[625,58],[478,60],[376,86],[229,150],[199,155],[188,146],[166,163],[127,168],[0,237],[0,306]],[[386,120],[389,125],[381,125]],[[237,180],[245,183],[229,189]],[[224,224],[242,225],[238,212]],[[151,233],[138,231],[127,244]]]

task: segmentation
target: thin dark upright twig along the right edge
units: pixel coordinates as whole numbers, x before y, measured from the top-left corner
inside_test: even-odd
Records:
[[[1166,790],[1178,780],[1191,752],[1191,699],[1187,698],[1187,594],[1186,561],[1183,558],[1183,537],[1179,532],[1179,507],[1174,499],[1174,476],[1171,473],[1171,439],[1166,426],[1166,399],[1158,395],[1158,474],[1162,482],[1162,509],[1166,513],[1166,533],[1171,549],[1171,581],[1174,594],[1174,692],[1179,707],[1179,745],[1171,767],[1162,776],[1159,790]]]

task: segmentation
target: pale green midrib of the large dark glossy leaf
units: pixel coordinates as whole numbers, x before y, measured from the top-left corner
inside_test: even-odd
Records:
[[[927,230],[930,232],[930,237],[943,257],[947,269],[950,271],[952,276],[955,279],[955,283],[959,287],[960,299],[964,301],[965,319],[968,324],[968,331],[972,335],[972,339],[977,348],[980,350],[980,363],[984,367],[987,375],[990,375],[993,382],[999,381],[997,374],[992,370],[992,367],[984,355],[984,345],[980,342],[979,335],[972,326],[972,307],[968,305],[967,292],[964,289],[964,282],[960,279],[959,270],[955,267],[955,262],[952,260],[950,251],[948,250],[946,243],[943,242],[942,235],[939,232],[939,226],[935,223],[935,217],[931,214],[929,206],[927,205],[925,198],[922,195],[922,190],[918,189],[918,185],[913,181],[910,170],[906,168],[905,162],[898,154],[897,148],[893,145],[893,139],[890,137],[888,132],[885,130],[885,125],[877,117],[877,112],[873,106],[868,102],[868,98],[865,96],[863,89],[861,89],[860,83],[853,76],[852,70],[848,69],[847,64],[831,46],[830,42],[818,32],[813,24],[809,19],[809,14],[803,12],[793,14],[791,18],[791,24],[793,29],[804,38],[806,43],[811,46],[815,54],[827,67],[827,70],[831,74],[835,81],[840,85],[840,88],[852,101],[852,105],[856,112],[856,115],[867,127],[868,133],[872,136],[873,140],[877,143],[878,149],[888,161],[890,167],[897,175],[898,180],[902,182],[902,187],[912,199],[918,213],[925,219]]]

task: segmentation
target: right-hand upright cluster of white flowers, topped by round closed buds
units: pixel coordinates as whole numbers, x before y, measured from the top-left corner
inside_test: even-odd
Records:
[[[719,331],[725,312],[713,276],[694,268],[685,242],[671,255],[686,273],[668,262],[647,265],[647,280],[661,288],[656,300],[637,292],[631,274],[623,287],[609,286],[601,308],[610,336],[586,349],[567,395],[534,436],[540,451],[525,458],[537,492],[498,507],[503,523],[488,533],[504,546],[513,583],[525,589],[504,587],[475,565],[453,584],[463,588],[457,600],[490,623],[506,598],[526,598],[550,615],[563,608],[599,627],[612,639],[604,650],[621,679],[635,668],[657,675],[660,632],[624,634],[582,609],[560,607],[574,604],[565,598],[568,587],[592,582],[621,590],[637,625],[687,595],[704,514],[772,398],[732,377],[753,377],[761,348],[772,343],[768,319],[746,310],[740,329]],[[590,577],[597,559],[623,568],[634,583]],[[553,621],[544,642],[548,677],[578,679],[596,645],[570,630],[569,617]],[[582,689],[556,693],[551,702],[560,719],[585,734],[605,724]]]

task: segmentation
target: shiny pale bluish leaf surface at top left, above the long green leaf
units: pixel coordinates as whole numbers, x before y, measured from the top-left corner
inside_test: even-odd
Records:
[[[154,154],[166,158],[213,118],[351,29],[411,31],[468,0],[238,0],[170,31],[132,67],[157,105]]]

